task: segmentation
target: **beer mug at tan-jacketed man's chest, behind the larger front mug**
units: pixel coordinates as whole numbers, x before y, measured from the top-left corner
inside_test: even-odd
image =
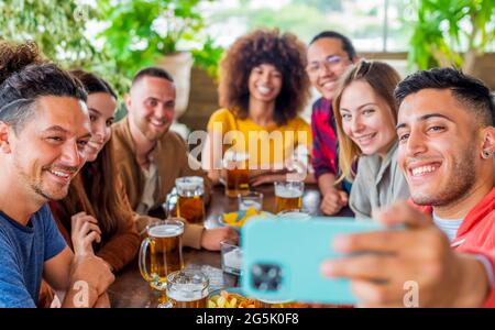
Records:
[[[205,221],[205,180],[200,176],[185,176],[175,180],[177,188],[177,217],[189,223]]]

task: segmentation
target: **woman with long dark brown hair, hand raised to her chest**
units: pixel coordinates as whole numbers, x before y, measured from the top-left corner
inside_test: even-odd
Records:
[[[87,106],[91,139],[86,145],[86,164],[70,184],[66,198],[52,202],[51,209],[69,246],[77,251],[92,245],[113,272],[131,262],[139,249],[134,212],[119,186],[114,168],[111,124],[117,95],[94,74],[72,72],[88,92]],[[89,233],[89,235],[88,235]],[[78,239],[87,235],[86,240]],[[74,244],[73,242],[80,242]]]

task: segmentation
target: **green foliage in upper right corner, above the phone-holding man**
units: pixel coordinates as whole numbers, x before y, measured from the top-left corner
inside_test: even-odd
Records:
[[[495,41],[495,0],[415,0],[409,62],[461,67]],[[466,69],[470,70],[469,68]]]

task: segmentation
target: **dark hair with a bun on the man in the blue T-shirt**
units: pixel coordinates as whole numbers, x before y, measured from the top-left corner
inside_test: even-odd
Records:
[[[73,97],[86,101],[79,80],[41,58],[35,43],[0,43],[0,121],[18,134],[35,113],[43,96]]]

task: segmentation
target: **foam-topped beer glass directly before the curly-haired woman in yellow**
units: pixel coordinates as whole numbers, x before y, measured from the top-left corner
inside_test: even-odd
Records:
[[[223,155],[223,168],[226,169],[226,195],[238,197],[250,191],[250,155],[244,152],[228,151]]]

